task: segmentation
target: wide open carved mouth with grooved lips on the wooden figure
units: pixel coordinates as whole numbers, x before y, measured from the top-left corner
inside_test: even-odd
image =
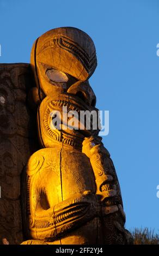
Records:
[[[82,116],[81,118],[81,113],[80,111],[91,111],[95,110],[97,111],[96,108],[94,107],[89,107],[87,106],[82,100],[77,99],[76,96],[72,95],[64,95],[62,99],[53,99],[50,97],[46,97],[46,102],[45,102],[45,111],[44,111],[44,129],[46,135],[49,135],[51,138],[53,138],[55,141],[62,142],[66,146],[71,145],[72,147],[79,149],[81,151],[82,148],[82,142],[84,137],[89,137],[89,136],[96,136],[99,133],[99,129],[97,128],[96,130],[92,129],[93,127],[96,127],[93,122],[94,118],[89,115],[87,116],[87,121],[90,126],[90,129],[87,129],[86,125],[86,120],[85,117]],[[61,118],[63,118],[63,107],[67,107],[65,109],[67,112],[69,111],[76,111],[78,113],[78,120],[77,117],[75,116],[75,119],[77,120],[78,127],[76,126],[75,129],[70,129],[69,126],[67,126],[67,122],[69,121],[68,115],[66,115],[66,120],[60,120],[60,124],[62,124],[62,129],[59,126],[59,129],[53,129],[52,128],[52,120],[53,120],[53,115],[51,114],[52,111],[59,111],[61,114]],[[64,111],[65,111],[64,110]],[[53,112],[54,113],[54,112]],[[64,117],[64,119],[65,119]],[[81,129],[81,124],[84,129]],[[63,129],[64,127],[64,129]],[[71,127],[72,128],[72,127]]]

